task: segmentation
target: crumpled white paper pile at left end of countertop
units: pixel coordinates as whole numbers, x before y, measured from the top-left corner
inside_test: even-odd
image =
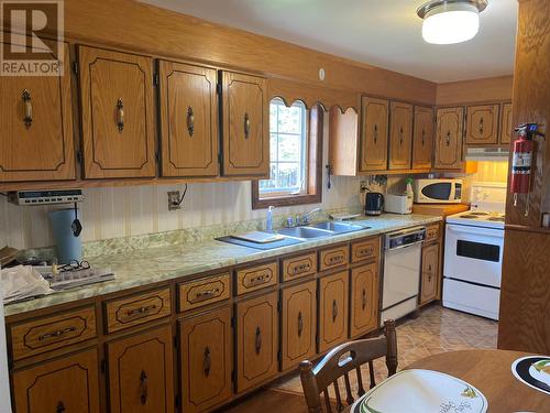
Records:
[[[4,304],[53,292],[50,283],[31,265],[0,270],[0,283]]]

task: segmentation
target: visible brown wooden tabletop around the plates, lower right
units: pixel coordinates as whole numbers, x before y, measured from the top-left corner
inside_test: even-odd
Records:
[[[405,369],[435,370],[466,381],[485,395],[490,413],[550,413],[550,395],[512,373],[512,363],[525,356],[531,355],[507,350],[449,351],[415,361]]]

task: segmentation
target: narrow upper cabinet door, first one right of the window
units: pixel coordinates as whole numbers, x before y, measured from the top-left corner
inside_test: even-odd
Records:
[[[361,171],[387,170],[387,100],[361,99]]]

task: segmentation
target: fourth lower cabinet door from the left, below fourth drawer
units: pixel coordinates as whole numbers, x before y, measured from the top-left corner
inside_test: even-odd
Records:
[[[237,391],[277,372],[277,293],[237,304]]]

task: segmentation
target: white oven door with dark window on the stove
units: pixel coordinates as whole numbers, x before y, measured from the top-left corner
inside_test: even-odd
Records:
[[[448,224],[443,275],[501,287],[504,230]]]

